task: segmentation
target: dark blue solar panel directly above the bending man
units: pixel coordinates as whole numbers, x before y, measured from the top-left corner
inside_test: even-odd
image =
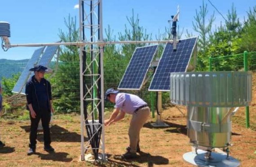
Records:
[[[140,90],[158,45],[137,47],[119,83],[119,90]]]

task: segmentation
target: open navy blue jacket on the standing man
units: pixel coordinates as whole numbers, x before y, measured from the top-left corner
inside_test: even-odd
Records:
[[[35,112],[38,112],[40,109],[39,106],[39,101],[38,101],[38,96],[36,94],[36,90],[35,90],[35,83],[38,82],[35,79],[35,75],[33,77],[31,77],[27,82],[26,82],[26,102],[27,105],[32,104],[32,107],[34,109]],[[42,78],[41,82],[45,83],[46,85],[46,90],[47,90],[47,96],[48,96],[48,108],[49,108],[49,112],[51,111],[51,106],[50,106],[50,100],[52,100],[52,90],[51,90],[51,84],[49,81],[47,81],[46,79]],[[27,106],[27,110],[29,110],[28,106]]]

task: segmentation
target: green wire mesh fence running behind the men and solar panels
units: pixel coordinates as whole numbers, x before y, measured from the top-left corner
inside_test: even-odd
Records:
[[[54,69],[56,64],[51,64]],[[121,81],[125,69],[128,65],[127,61],[108,61],[104,64],[104,88],[117,88]],[[11,94],[11,90],[18,79],[18,75],[22,72],[26,63],[1,63],[0,64],[0,80],[2,81],[4,89],[4,109],[13,115],[13,119],[19,118],[17,115],[22,115],[26,112],[24,95]],[[244,54],[219,56],[210,58],[211,71],[244,71]],[[256,128],[256,52],[247,53],[247,68],[253,74],[253,100],[249,107],[250,125]],[[156,110],[156,92],[148,91],[148,87],[152,78],[152,73],[149,72],[147,77],[150,79],[146,82],[140,91],[123,91],[127,93],[137,94],[143,98],[154,111],[154,116],[157,114]],[[14,77],[13,79],[13,76]],[[57,113],[77,113],[80,112],[80,89],[79,89],[79,62],[59,62],[57,70],[53,74],[46,76],[52,83],[54,108]],[[9,79],[9,80],[8,80]],[[15,80],[16,79],[16,80]],[[5,83],[3,83],[5,82]],[[186,115],[185,107],[173,106],[169,103],[169,92],[163,92],[163,112],[162,118],[168,119],[172,117],[180,117]],[[14,103],[15,102],[15,103]],[[90,107],[90,105],[88,105]],[[110,116],[114,105],[105,103],[105,115]],[[239,108],[234,115],[233,121],[244,125],[246,120],[245,107]],[[21,119],[23,119],[22,117]],[[25,118],[29,119],[28,116]]]

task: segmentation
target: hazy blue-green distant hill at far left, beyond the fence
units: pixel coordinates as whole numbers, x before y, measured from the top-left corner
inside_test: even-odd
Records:
[[[13,74],[21,73],[29,59],[7,60],[0,59],[0,80],[2,77],[10,78]]]

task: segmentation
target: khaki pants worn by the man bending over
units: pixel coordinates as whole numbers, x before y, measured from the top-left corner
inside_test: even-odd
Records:
[[[136,153],[137,144],[140,143],[140,131],[146,120],[150,116],[150,108],[144,107],[132,114],[132,120],[129,127],[130,152]]]

